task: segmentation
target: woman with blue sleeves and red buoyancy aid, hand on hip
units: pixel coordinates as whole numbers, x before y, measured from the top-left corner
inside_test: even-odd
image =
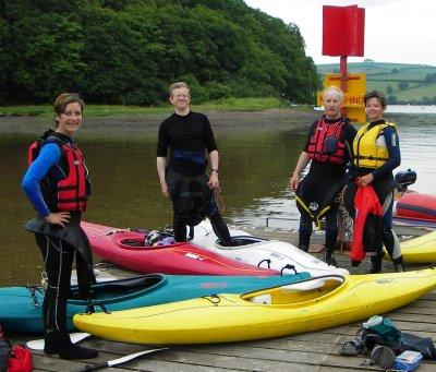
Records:
[[[96,350],[72,344],[66,328],[66,301],[76,256],[81,293],[89,297],[95,283],[92,253],[80,223],[90,193],[88,171],[73,135],[82,125],[83,100],[76,94],[61,94],[55,104],[57,129],[29,147],[29,167],[22,187],[37,211],[25,224],[35,233],[48,277],[43,314],[46,353],[62,359],[97,357]]]

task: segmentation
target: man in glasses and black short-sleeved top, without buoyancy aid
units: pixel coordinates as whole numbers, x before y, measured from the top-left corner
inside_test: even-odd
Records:
[[[174,113],[159,127],[157,171],[164,196],[171,197],[175,241],[186,241],[186,226],[210,219],[222,245],[231,245],[229,229],[218,211],[214,192],[219,192],[218,147],[209,120],[190,109],[190,87],[186,83],[170,86],[170,103]],[[168,148],[170,157],[167,165]],[[210,176],[206,173],[209,154]]]

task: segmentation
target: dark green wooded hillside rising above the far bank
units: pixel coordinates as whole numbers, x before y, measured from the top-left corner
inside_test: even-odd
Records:
[[[156,105],[174,81],[195,101],[314,103],[319,80],[299,28],[242,0],[0,1],[0,104]]]

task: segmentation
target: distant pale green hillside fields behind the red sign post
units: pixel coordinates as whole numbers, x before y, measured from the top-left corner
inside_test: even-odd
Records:
[[[389,103],[436,105],[436,67],[425,64],[355,62],[348,63],[348,72],[366,74],[366,91],[378,89]],[[339,72],[338,63],[318,64],[318,73]],[[434,74],[433,81],[427,76]],[[403,85],[403,86],[401,86]]]

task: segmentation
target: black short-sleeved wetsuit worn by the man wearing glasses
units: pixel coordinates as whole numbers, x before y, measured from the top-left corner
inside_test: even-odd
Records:
[[[172,113],[164,120],[159,127],[157,157],[167,157],[168,148],[170,158],[166,180],[173,204],[175,240],[186,241],[186,225],[197,225],[207,216],[221,243],[230,245],[229,229],[218,211],[214,194],[206,185],[205,151],[210,153],[218,149],[207,117],[190,111],[186,116]],[[191,207],[191,204],[194,206]],[[186,212],[190,208],[192,213]]]

